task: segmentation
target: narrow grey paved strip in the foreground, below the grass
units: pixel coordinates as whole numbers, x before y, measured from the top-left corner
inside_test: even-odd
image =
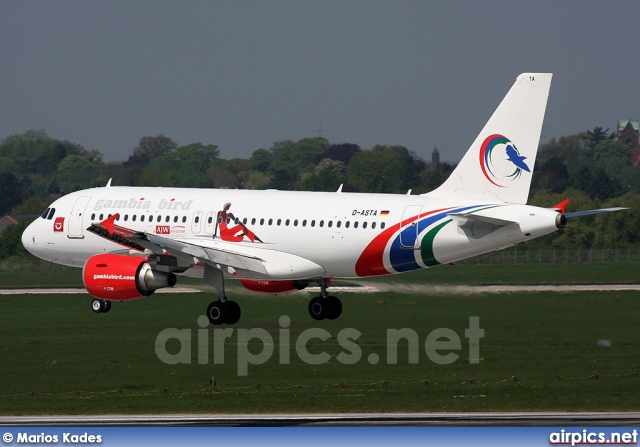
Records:
[[[0,426],[637,426],[629,413],[335,413],[1,416]]]

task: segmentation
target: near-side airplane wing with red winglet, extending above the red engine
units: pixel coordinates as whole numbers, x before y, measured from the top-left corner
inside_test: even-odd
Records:
[[[204,240],[198,241],[201,243],[198,244],[195,241],[191,243],[144,231],[133,231],[129,228],[115,225],[114,221],[117,216],[115,214],[103,222],[91,224],[87,231],[134,250],[144,251],[147,249],[157,254],[168,254],[192,265],[199,265],[204,262],[214,265],[216,268],[226,266],[267,274],[265,261],[256,256],[228,250],[220,246],[207,247]]]

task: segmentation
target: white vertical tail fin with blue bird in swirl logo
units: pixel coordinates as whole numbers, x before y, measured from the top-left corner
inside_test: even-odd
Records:
[[[551,77],[518,76],[451,176],[425,195],[526,204]]]

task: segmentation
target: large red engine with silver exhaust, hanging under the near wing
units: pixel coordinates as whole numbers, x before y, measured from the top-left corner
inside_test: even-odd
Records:
[[[173,287],[176,275],[154,270],[145,258],[102,254],[90,257],[82,270],[84,287],[96,298],[133,300]]]

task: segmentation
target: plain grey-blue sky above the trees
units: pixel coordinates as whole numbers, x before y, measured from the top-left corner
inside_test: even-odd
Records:
[[[146,135],[246,158],[276,141],[458,162],[523,72],[542,141],[640,118],[637,1],[0,0],[0,139],[125,160]]]

